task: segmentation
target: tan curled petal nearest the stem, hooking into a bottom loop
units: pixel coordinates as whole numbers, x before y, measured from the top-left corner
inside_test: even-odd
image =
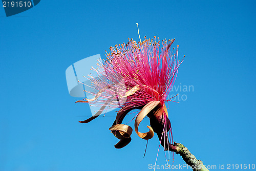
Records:
[[[146,117],[146,115],[148,113],[150,113],[159,103],[161,103],[160,101],[150,101],[148,102],[143,108],[142,110],[139,112],[139,114],[137,115],[136,119],[135,119],[135,123],[134,123],[134,127],[135,127],[135,131],[138,134],[138,136],[142,139],[148,140],[153,138],[154,136],[154,131],[152,129],[151,126],[147,126],[150,131],[148,131],[147,133],[140,133],[138,131],[138,127],[140,122],[144,119],[144,117]]]

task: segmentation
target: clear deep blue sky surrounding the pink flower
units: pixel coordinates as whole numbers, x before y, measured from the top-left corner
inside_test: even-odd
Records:
[[[176,38],[179,55],[186,55],[175,85],[194,91],[169,103],[174,141],[213,170],[256,164],[255,5],[45,0],[10,17],[0,8],[0,170],[152,170],[158,138],[148,141],[145,158],[146,141],[135,132],[129,145],[115,149],[115,112],[78,123],[90,109],[75,103],[80,98],[69,95],[65,76],[80,59],[138,40],[136,23],[141,37]],[[184,164],[174,158],[174,165]],[[160,147],[157,165],[165,163]]]

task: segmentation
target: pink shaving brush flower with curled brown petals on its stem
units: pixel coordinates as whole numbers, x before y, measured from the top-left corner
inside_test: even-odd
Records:
[[[140,138],[148,140],[156,133],[165,151],[180,154],[187,164],[194,166],[194,170],[202,170],[202,162],[191,156],[182,144],[173,141],[165,105],[166,102],[172,101],[168,94],[183,61],[178,58],[179,46],[176,50],[170,48],[175,39],[160,41],[156,36],[152,39],[147,39],[146,36],[144,38],[138,43],[129,39],[127,44],[110,47],[111,52],[106,52],[106,60],[98,60],[97,69],[92,67],[98,77],[89,75],[88,79],[92,83],[90,87],[97,93],[87,91],[94,95],[94,98],[76,102],[101,106],[101,109],[91,118],[79,122],[88,123],[105,109],[119,108],[110,131],[120,140],[115,147],[122,148],[131,142],[133,132],[132,127],[122,124],[122,121],[130,111],[139,109],[134,129]],[[141,133],[138,127],[146,116],[150,118],[150,125],[147,126],[149,131]]]

